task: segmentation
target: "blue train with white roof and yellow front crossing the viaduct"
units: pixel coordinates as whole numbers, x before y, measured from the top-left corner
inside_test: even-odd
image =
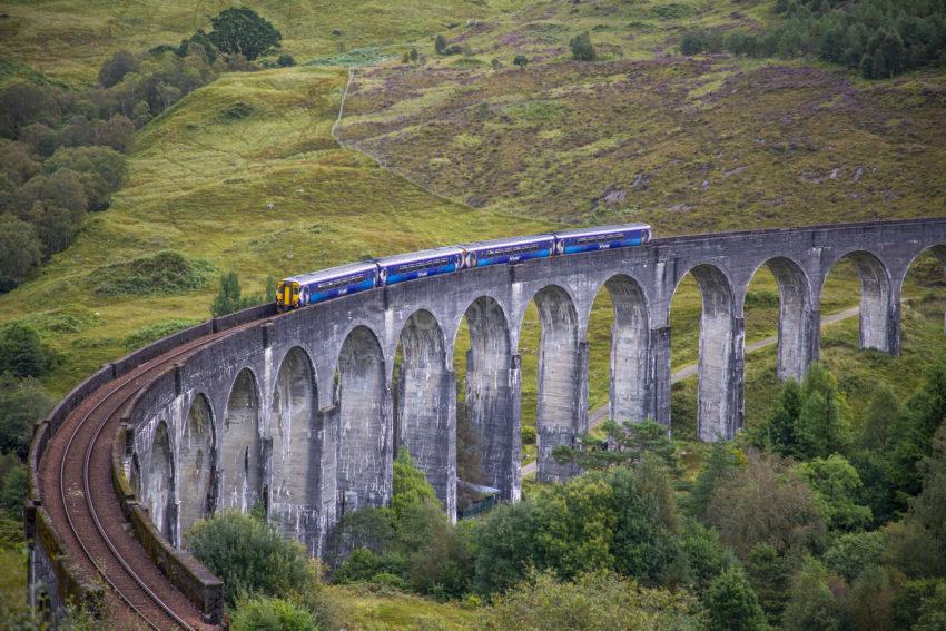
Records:
[[[650,239],[649,225],[623,224],[400,254],[284,278],[277,284],[276,306],[280,310],[292,309],[415,278],[473,267],[512,265],[533,258],[633,247]]]

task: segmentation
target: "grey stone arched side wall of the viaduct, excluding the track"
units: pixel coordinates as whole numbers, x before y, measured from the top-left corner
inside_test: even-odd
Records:
[[[742,308],[760,267],[780,289],[778,374],[800,377],[818,357],[819,296],[839,259],[860,276],[861,346],[897,354],[904,277],[930,248],[946,263],[946,219],[710,234],[334,299],[207,344],[152,382],[131,408],[126,473],[176,545],[208,512],[263,502],[287,535],[319,554],[343,513],[390,499],[396,445],[453,514],[453,354],[465,317],[465,405],[482,435],[485,483],[515,501],[520,325],[530,302],[542,325],[538,474],[562,480],[575,472],[551,451],[588,428],[585,332],[602,288],[614,304],[611,415],[669,424],[670,300],[693,274],[703,304],[698,431],[715,441],[742,425]]]

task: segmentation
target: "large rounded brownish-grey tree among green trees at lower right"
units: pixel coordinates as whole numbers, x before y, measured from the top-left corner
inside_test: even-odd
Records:
[[[757,543],[779,554],[820,548],[825,522],[811,491],[777,457],[750,455],[746,467],[713,491],[707,521],[746,559]]]

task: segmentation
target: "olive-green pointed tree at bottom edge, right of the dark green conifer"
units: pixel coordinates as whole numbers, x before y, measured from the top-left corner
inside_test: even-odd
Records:
[[[834,631],[839,627],[839,613],[838,602],[828,586],[828,571],[820,561],[808,556],[791,579],[782,629]]]

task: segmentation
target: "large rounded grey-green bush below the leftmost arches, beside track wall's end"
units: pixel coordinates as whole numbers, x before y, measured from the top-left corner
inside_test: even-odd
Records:
[[[243,594],[286,594],[312,578],[305,549],[249,515],[217,513],[194,524],[187,542],[194,556],[225,578],[230,604]]]

